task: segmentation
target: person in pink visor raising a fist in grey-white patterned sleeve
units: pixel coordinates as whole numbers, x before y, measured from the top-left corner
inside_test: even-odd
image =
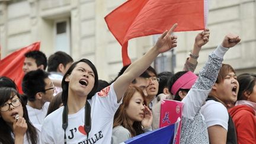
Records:
[[[181,143],[209,143],[206,122],[200,113],[207,96],[212,91],[223,56],[230,47],[239,43],[240,39],[234,34],[228,34],[217,49],[209,55],[209,60],[199,72],[199,77],[187,71],[175,73],[168,81],[169,92],[175,95],[174,100],[182,100],[183,116],[181,124]],[[215,108],[212,109],[215,111]],[[216,132],[218,133],[218,132]],[[211,140],[211,139],[210,139]],[[215,140],[219,140],[215,137]]]

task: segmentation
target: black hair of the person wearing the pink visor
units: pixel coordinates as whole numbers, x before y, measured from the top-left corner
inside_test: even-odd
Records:
[[[177,72],[175,73],[171,78],[168,79],[167,81],[167,85],[168,85],[168,90],[169,92],[172,94],[171,92],[171,88],[172,88],[172,85],[174,85],[174,83],[181,77],[183,76],[185,73],[187,73],[188,71],[180,71],[180,72]],[[189,90],[189,89],[188,89]],[[181,101],[181,98],[180,98],[180,95],[178,95],[178,92],[179,91],[185,91],[185,92],[188,92],[187,89],[178,89],[178,91],[176,92],[176,94],[172,94],[172,95],[175,95],[174,97],[174,100],[177,100],[177,101]]]

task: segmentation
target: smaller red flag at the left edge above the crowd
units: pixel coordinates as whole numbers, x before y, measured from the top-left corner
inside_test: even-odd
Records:
[[[25,60],[24,54],[33,50],[40,49],[40,42],[33,43],[27,47],[16,50],[4,59],[0,60],[0,76],[7,76],[14,80],[18,86],[19,92],[22,93],[21,82],[23,80],[23,63]]]

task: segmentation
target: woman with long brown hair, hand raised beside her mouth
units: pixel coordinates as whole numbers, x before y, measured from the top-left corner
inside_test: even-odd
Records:
[[[140,88],[129,87],[127,89],[123,103],[114,115],[112,144],[124,142],[130,137],[151,129],[153,117],[151,110],[145,104],[145,95]]]

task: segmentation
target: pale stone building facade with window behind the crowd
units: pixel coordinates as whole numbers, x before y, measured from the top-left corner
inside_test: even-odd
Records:
[[[1,59],[35,41],[47,56],[62,50],[74,60],[87,58],[97,67],[99,78],[110,81],[122,67],[121,46],[108,31],[104,17],[124,0],[0,0]],[[209,0],[210,41],[200,52],[199,66],[227,33],[239,34],[242,42],[225,56],[238,73],[256,73],[254,0]],[[161,71],[181,71],[200,31],[175,33],[178,47],[152,64]],[[158,36],[129,41],[129,56],[141,57]]]

